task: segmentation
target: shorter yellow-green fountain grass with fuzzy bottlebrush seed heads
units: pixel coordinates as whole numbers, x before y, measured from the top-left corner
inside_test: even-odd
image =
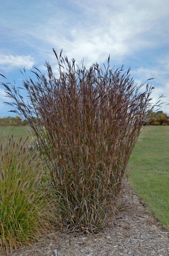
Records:
[[[35,241],[51,225],[48,200],[40,187],[42,166],[38,154],[12,138],[0,147],[1,250]]]

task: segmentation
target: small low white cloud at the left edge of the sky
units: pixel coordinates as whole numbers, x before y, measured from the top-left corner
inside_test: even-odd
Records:
[[[30,55],[0,55],[0,68],[5,71],[13,68],[31,68],[34,63],[34,58]]]

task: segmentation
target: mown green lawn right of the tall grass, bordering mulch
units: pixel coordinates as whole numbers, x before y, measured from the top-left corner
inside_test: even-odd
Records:
[[[165,226],[169,225],[169,126],[143,128],[130,158],[130,182]]]

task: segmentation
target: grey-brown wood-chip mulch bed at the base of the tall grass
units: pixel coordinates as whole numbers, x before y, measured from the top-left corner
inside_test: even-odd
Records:
[[[110,219],[103,232],[79,237],[51,233],[32,248],[11,255],[169,255],[167,230],[147,212],[130,185],[125,187],[123,199],[124,211]]]

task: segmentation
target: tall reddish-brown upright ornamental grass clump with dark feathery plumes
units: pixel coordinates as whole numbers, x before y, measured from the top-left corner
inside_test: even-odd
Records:
[[[34,68],[36,82],[23,82],[27,102],[16,86],[3,85],[52,164],[61,227],[94,233],[115,211],[130,154],[153,109],[153,87],[135,84],[130,69],[111,69],[110,58],[87,69],[53,51],[59,76],[48,62],[48,77]]]

